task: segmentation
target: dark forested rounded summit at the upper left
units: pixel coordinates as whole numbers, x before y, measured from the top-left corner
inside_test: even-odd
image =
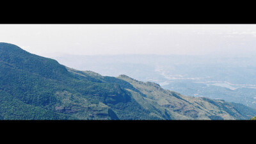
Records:
[[[51,79],[71,76],[65,66],[60,65],[58,61],[31,54],[13,44],[0,43],[0,61],[8,63],[12,68],[26,70]]]

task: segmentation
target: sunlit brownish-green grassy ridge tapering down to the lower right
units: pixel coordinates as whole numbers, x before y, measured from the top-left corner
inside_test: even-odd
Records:
[[[255,109],[243,104],[231,104],[224,100],[212,100],[204,97],[187,97],[176,92],[164,90],[156,83],[143,83],[131,77],[121,75],[118,79],[132,84],[143,95],[132,92],[134,99],[145,109],[156,111],[163,118],[188,120],[235,120],[249,119]]]

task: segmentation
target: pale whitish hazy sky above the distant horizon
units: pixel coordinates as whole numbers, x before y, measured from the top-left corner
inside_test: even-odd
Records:
[[[0,42],[54,54],[256,54],[256,24],[0,24]]]

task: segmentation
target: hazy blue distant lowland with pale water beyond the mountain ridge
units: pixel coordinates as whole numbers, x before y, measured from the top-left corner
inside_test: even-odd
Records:
[[[252,54],[61,54],[51,58],[78,70],[92,70],[103,76],[125,74],[138,81],[158,83],[162,88],[182,95],[223,99],[256,109],[256,58]]]

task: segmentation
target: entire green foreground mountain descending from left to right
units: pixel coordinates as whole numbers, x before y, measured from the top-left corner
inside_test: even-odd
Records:
[[[0,43],[1,120],[240,120],[255,115],[243,104],[68,68]]]

